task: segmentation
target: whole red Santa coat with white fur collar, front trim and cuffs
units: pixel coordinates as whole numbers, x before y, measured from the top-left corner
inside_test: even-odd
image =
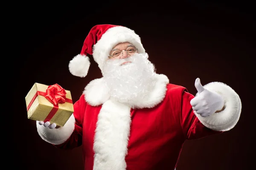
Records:
[[[66,127],[53,133],[38,126],[39,135],[56,147],[82,145],[85,170],[174,170],[186,139],[230,130],[241,112],[239,96],[219,82],[205,86],[218,89],[225,100],[224,111],[210,118],[195,114],[190,105],[194,96],[186,88],[170,84],[164,75],[158,75],[148,100],[130,104],[112,100],[99,88],[103,84],[96,79],[87,85]]]

